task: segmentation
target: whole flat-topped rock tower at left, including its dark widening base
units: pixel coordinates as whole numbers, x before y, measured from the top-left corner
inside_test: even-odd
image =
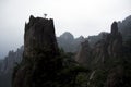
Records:
[[[24,57],[14,70],[13,87],[50,87],[46,82],[56,80],[56,72],[62,66],[57,55],[53,21],[31,16],[25,24]]]

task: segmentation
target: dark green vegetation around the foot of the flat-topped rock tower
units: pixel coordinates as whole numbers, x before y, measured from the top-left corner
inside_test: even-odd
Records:
[[[66,53],[61,49],[53,59],[51,50],[35,49],[34,53],[37,57],[24,57],[22,63],[15,65],[13,80],[16,72],[24,66],[24,80],[27,80],[31,87],[80,87],[82,83],[86,83],[83,74],[88,70],[73,60],[73,53]],[[37,60],[34,60],[36,58]]]

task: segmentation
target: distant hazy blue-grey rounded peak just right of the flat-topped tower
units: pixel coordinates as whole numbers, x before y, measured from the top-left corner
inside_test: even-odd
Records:
[[[76,52],[80,44],[84,41],[84,37],[80,36],[79,38],[74,38],[71,33],[66,32],[57,40],[59,48],[62,48],[66,52]]]

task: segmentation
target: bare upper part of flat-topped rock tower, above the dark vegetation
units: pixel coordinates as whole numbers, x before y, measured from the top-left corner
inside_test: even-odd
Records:
[[[55,35],[53,21],[31,15],[29,23],[25,24],[24,55],[34,57],[36,49],[52,49],[52,53],[58,52]]]

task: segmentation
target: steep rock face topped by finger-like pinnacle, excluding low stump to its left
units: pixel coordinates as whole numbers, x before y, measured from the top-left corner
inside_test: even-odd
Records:
[[[103,36],[94,47],[94,63],[104,63],[106,59],[119,58],[122,53],[122,36],[118,32],[117,22],[111,25],[111,33]]]

